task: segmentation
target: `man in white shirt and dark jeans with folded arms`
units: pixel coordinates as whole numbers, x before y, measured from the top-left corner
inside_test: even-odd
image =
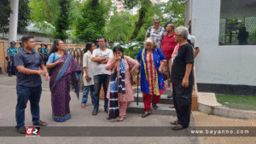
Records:
[[[100,91],[103,84],[104,89],[104,111],[108,112],[108,84],[110,79],[110,71],[105,69],[105,65],[108,63],[108,60],[113,57],[113,51],[106,48],[107,39],[105,37],[99,38],[100,49],[95,49],[92,53],[92,60],[95,61],[94,66],[94,86],[95,94],[92,96],[94,99],[94,109],[92,115],[96,115],[99,109],[99,99]]]

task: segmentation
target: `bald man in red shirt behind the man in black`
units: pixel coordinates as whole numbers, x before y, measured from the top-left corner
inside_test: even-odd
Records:
[[[169,84],[169,78],[170,78],[170,73],[171,73],[171,67],[172,67],[172,53],[177,45],[175,42],[175,32],[174,32],[174,25],[172,23],[167,23],[166,24],[166,35],[163,37],[162,40],[162,51],[164,55],[166,56],[166,65],[163,67],[163,74],[164,74],[164,79],[165,79],[165,85],[171,87]],[[168,95],[170,97],[171,95]]]

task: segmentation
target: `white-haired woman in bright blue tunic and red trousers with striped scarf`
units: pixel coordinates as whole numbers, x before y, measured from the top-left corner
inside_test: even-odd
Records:
[[[141,61],[141,90],[143,92],[144,113],[143,118],[151,114],[150,104],[157,109],[160,95],[166,90],[162,67],[166,64],[166,57],[158,49],[152,37],[145,40],[145,48],[137,54],[137,60]]]

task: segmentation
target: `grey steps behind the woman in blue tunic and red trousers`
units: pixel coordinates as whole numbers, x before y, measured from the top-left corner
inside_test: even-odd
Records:
[[[144,112],[144,104],[143,104],[143,93],[140,89],[140,87],[134,88],[135,94],[134,94],[134,102],[131,103],[131,105],[127,108],[127,112],[135,112],[135,113],[142,113]],[[138,94],[138,98],[137,98]],[[152,114],[158,114],[158,115],[176,115],[175,108],[170,108],[170,105],[173,105],[172,98],[167,98],[167,95],[172,95],[172,90],[170,88],[166,89],[163,93],[163,95],[160,96],[160,102],[157,104],[158,109],[154,110],[154,108],[151,106],[151,112]],[[138,100],[138,105],[137,105]]]

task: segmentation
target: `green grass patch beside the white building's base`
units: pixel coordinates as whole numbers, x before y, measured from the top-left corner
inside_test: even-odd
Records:
[[[256,111],[255,96],[216,95],[216,99],[225,107]]]

